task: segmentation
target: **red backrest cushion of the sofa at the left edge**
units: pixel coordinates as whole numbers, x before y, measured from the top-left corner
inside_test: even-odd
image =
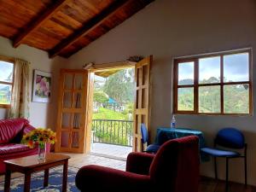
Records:
[[[0,120],[0,144],[9,143],[28,124],[26,119]]]

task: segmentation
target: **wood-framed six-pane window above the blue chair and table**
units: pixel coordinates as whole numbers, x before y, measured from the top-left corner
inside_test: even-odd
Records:
[[[174,61],[174,113],[252,114],[251,50]]]

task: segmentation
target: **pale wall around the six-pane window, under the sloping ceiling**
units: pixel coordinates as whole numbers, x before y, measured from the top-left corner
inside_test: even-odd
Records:
[[[123,61],[131,55],[154,55],[151,95],[151,129],[154,133],[157,126],[170,125],[173,57],[247,47],[253,47],[253,56],[256,55],[254,0],[157,0],[73,55],[69,67],[81,68],[90,61]],[[256,75],[253,74],[255,82]],[[253,90],[253,99],[256,100],[256,89]],[[256,185],[255,116],[179,115],[177,125],[203,131],[209,145],[221,127],[241,129],[248,143],[248,183]],[[241,162],[232,160],[230,164],[230,179],[233,181],[243,181]],[[219,172],[224,178],[223,163]],[[201,165],[201,174],[213,177],[212,162]]]

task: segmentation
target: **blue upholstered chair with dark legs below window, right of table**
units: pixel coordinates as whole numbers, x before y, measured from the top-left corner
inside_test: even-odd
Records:
[[[224,148],[244,149],[243,154],[240,154],[233,150],[225,150],[217,148],[222,146]],[[244,159],[244,177],[245,184],[247,185],[247,143],[241,131],[235,128],[224,128],[218,131],[217,137],[214,140],[214,148],[201,148],[201,151],[205,154],[209,154],[214,158],[214,171],[215,178],[218,179],[217,172],[217,157],[226,158],[226,186],[225,191],[229,190],[229,160],[231,158],[243,158]]]

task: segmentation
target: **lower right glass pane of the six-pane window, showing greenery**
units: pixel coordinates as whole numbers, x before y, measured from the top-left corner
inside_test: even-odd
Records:
[[[249,113],[249,84],[224,85],[224,113]]]

